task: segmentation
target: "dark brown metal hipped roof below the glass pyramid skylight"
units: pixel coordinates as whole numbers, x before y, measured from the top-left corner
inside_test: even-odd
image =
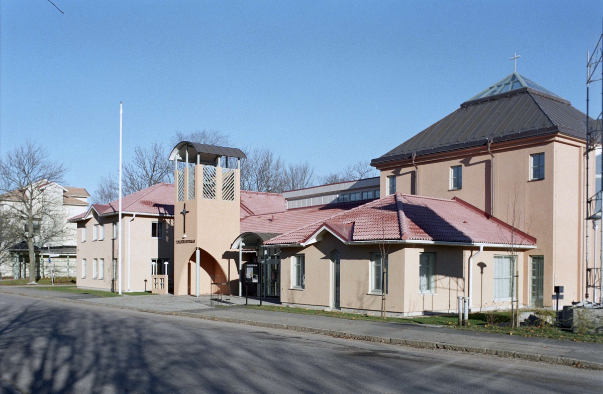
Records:
[[[371,164],[555,132],[586,139],[586,114],[569,101],[523,87],[461,104]]]

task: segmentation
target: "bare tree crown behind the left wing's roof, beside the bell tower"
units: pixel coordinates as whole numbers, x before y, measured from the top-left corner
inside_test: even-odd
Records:
[[[174,164],[168,160],[168,149],[154,142],[150,148],[137,145],[133,160],[124,165],[122,189],[132,194],[160,182],[174,182]],[[94,202],[106,204],[119,198],[118,173],[101,177],[96,187]]]

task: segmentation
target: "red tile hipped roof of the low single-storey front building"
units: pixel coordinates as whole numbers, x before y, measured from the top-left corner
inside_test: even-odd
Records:
[[[306,221],[305,226],[283,232],[265,244],[302,244],[323,227],[342,240],[352,242],[385,239],[511,243],[512,232],[508,224],[488,217],[484,211],[459,199],[444,200],[396,193],[344,212],[334,213],[335,215],[318,218],[312,223]],[[254,230],[282,232],[269,227]],[[514,244],[535,244],[535,238],[528,234],[518,230],[515,230],[514,234]]]

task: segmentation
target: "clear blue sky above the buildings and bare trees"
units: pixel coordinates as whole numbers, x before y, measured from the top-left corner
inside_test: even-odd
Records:
[[[214,129],[318,174],[386,153],[517,71],[586,108],[601,1],[0,1],[0,154],[93,192],[134,145]],[[599,101],[600,103],[600,101]]]

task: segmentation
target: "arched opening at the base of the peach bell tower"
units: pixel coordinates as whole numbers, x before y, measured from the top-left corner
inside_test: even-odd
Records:
[[[205,250],[201,248],[197,248],[197,250],[199,251],[199,294],[212,294],[216,291],[221,292],[221,294],[229,294],[228,276],[224,273],[222,266]],[[197,293],[197,281],[195,279],[197,250],[192,253],[188,261],[188,294],[193,296]],[[216,283],[224,285],[212,285]]]

